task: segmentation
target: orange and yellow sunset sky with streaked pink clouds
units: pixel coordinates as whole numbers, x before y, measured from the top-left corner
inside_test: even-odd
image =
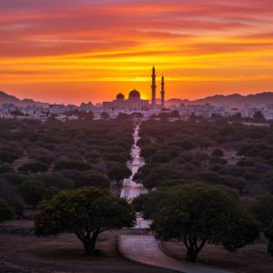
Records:
[[[20,99],[273,92],[273,1],[0,0],[0,90]]]

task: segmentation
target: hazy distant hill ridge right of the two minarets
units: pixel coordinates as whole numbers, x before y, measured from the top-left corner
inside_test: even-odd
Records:
[[[181,104],[185,105],[205,105],[210,104],[212,106],[221,106],[225,104],[227,106],[245,106],[245,104],[250,104],[252,106],[261,106],[266,105],[272,101],[273,103],[273,93],[272,92],[264,92],[256,95],[248,95],[242,96],[239,94],[233,95],[216,95],[216,96],[207,96],[205,98],[200,98],[196,100],[188,100],[188,99],[179,99],[179,98],[171,98],[165,101],[166,106],[176,105],[180,106]],[[160,98],[157,98],[157,104],[160,104]]]

